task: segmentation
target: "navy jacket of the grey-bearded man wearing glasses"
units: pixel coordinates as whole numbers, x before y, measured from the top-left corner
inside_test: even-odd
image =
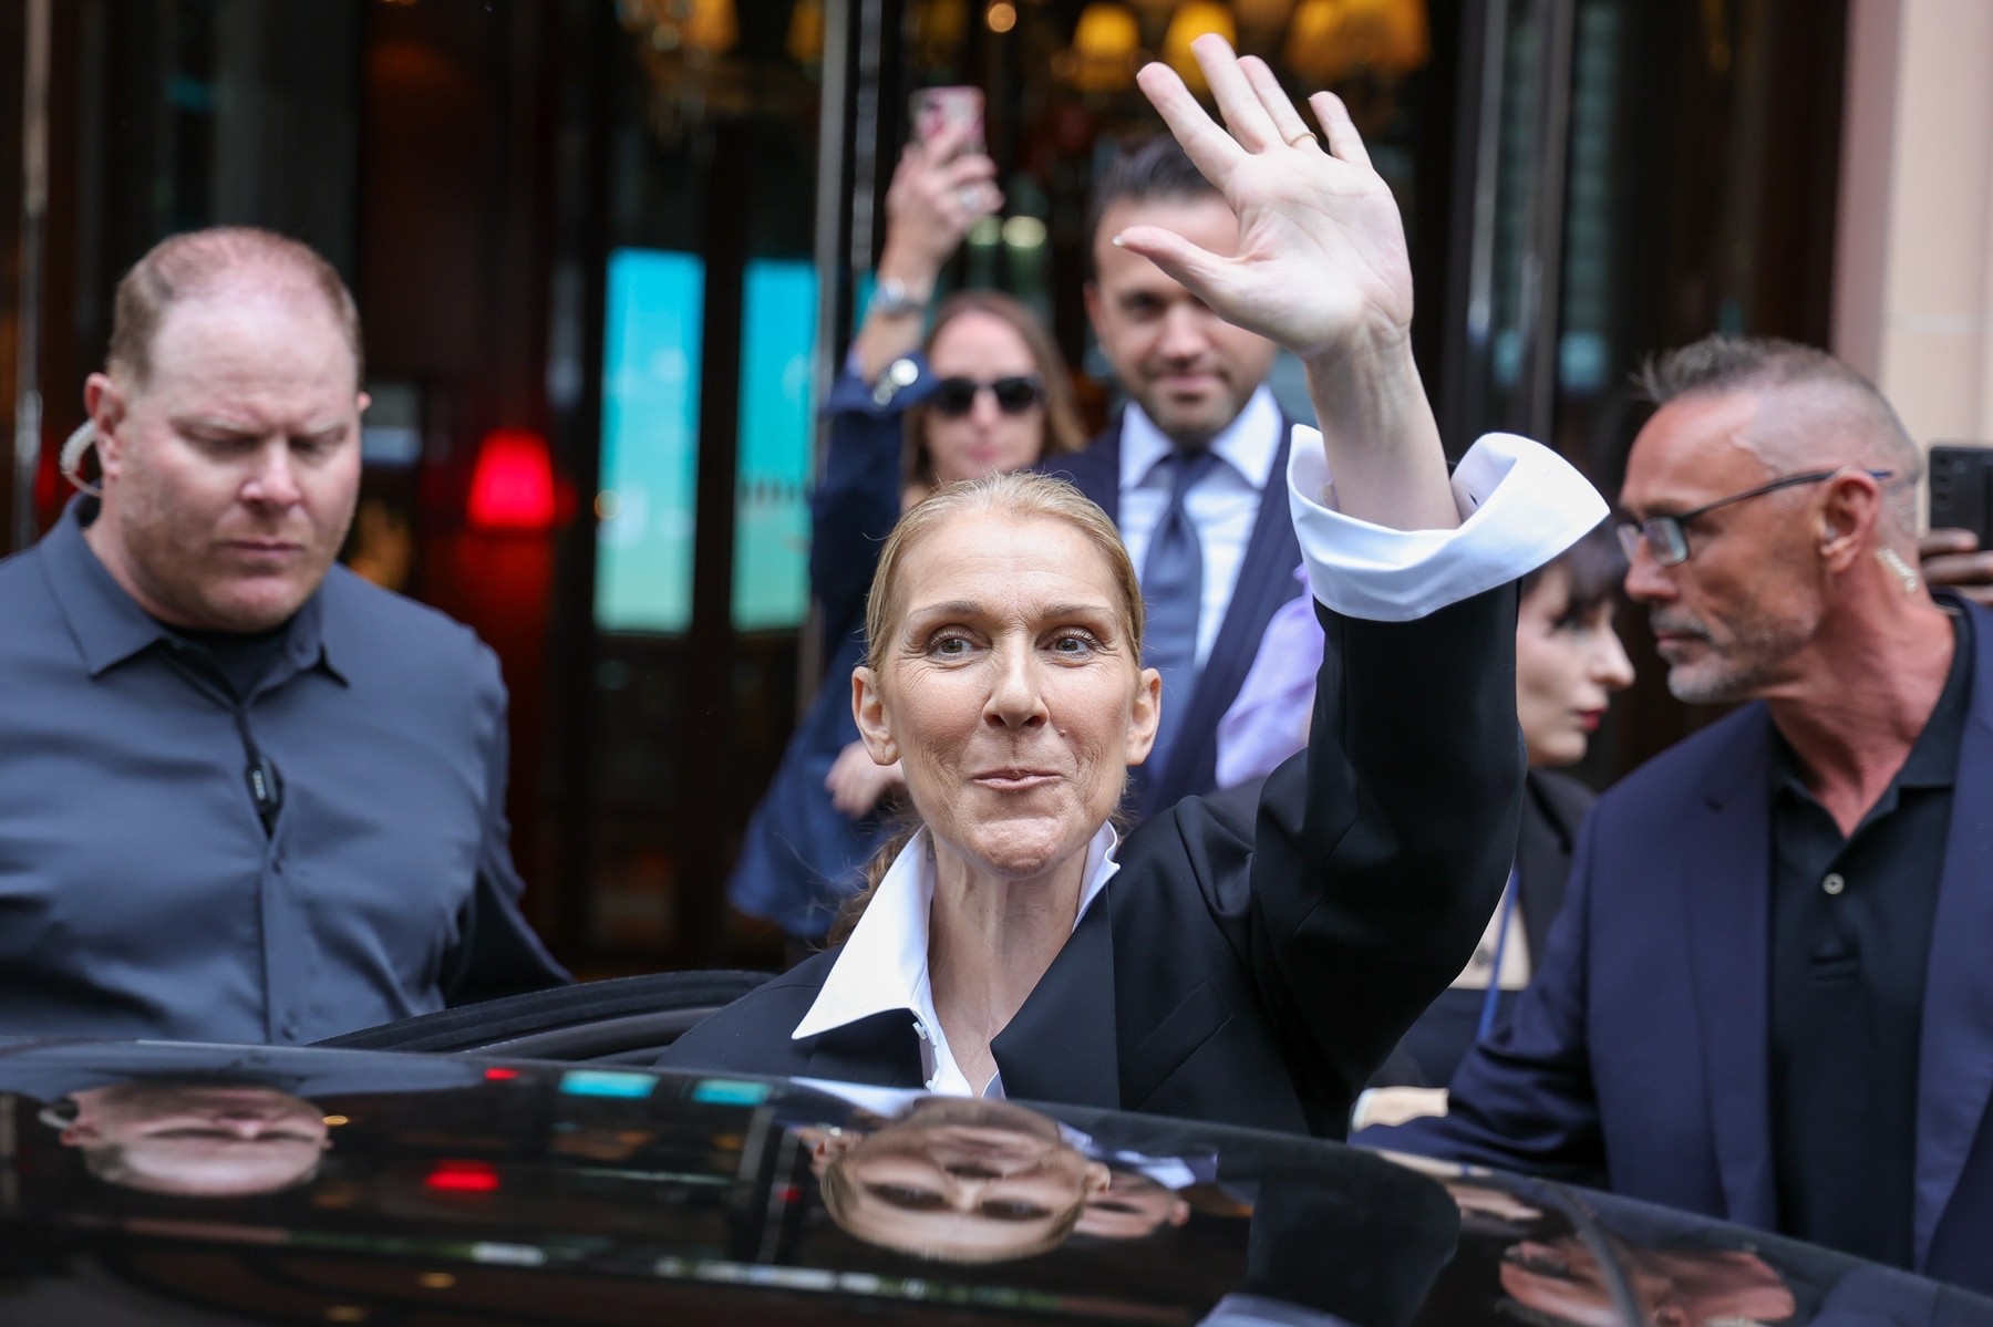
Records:
[[[1961,606],[1971,709],[1931,929],[1913,1267],[1993,1291],[1993,614]],[[1584,821],[1565,911],[1451,1114],[1359,1142],[1606,1186],[1776,1229],[1768,1082],[1772,719],[1746,705]]]

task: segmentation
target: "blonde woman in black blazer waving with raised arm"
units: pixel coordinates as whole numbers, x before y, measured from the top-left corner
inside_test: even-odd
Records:
[[[1060,480],[943,488],[881,552],[851,673],[921,831],[849,940],[668,1064],[1339,1136],[1495,909],[1523,785],[1511,582],[1604,504],[1519,438],[1449,480],[1397,203],[1347,112],[1317,94],[1317,139],[1262,62],[1194,50],[1230,133],[1166,66],[1140,84],[1236,253],[1116,243],[1307,369],[1325,428],[1295,430],[1287,496],[1329,640],[1309,749],[1254,817],[1192,797],[1122,839],[1162,705],[1128,552]]]

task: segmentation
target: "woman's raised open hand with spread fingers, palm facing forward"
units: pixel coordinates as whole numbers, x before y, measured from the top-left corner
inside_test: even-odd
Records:
[[[1166,64],[1142,68],[1136,82],[1238,215],[1238,249],[1208,253],[1150,225],[1128,227],[1116,243],[1154,261],[1228,323],[1303,361],[1403,347],[1411,329],[1405,227],[1341,100],[1331,92],[1309,98],[1317,137],[1262,60],[1240,60],[1216,36],[1198,38],[1192,52],[1230,133]]]

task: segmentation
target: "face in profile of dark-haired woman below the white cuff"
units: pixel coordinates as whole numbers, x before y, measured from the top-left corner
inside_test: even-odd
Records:
[[[1570,576],[1549,568],[1523,596],[1515,624],[1515,713],[1531,765],[1584,759],[1612,691],[1632,685],[1632,664],[1612,630],[1612,602],[1566,622]]]

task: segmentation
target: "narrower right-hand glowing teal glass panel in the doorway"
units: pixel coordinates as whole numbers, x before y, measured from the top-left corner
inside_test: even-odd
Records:
[[[809,357],[817,273],[747,263],[741,309],[741,436],[733,484],[733,626],[793,630],[809,612]]]

